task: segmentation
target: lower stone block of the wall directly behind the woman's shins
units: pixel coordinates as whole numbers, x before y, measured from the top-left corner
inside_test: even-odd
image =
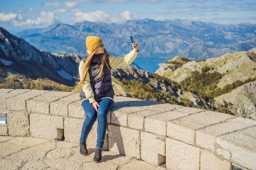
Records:
[[[65,117],[64,119],[64,134],[65,141],[79,143],[79,139],[81,137],[81,130],[84,119],[75,119]],[[93,127],[86,139],[87,148],[95,148],[97,143],[97,127],[98,121],[93,124]],[[108,148],[108,130],[106,130],[105,140],[103,149],[106,150]]]

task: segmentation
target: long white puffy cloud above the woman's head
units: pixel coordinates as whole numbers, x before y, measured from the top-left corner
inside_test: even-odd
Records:
[[[114,22],[123,23],[127,20],[136,19],[136,14],[131,14],[130,11],[108,13],[104,11],[91,11],[87,13],[76,12],[76,18],[72,17],[71,20],[76,22],[90,21],[90,22]]]

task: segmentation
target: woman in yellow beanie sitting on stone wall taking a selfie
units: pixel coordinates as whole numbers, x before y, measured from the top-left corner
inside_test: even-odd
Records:
[[[87,155],[86,139],[98,115],[97,143],[93,160],[102,159],[102,148],[108,126],[108,112],[113,105],[114,91],[111,81],[111,68],[130,65],[139,52],[137,42],[132,43],[133,50],[125,57],[114,57],[108,54],[103,41],[96,36],[86,38],[87,51],[79,64],[80,81],[76,87],[82,86],[80,93],[81,105],[86,118],[84,120],[81,137],[80,153]],[[87,74],[88,73],[88,74]]]

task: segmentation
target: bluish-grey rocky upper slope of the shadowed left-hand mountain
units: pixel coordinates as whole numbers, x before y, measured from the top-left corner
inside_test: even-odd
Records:
[[[7,61],[33,60],[39,65],[52,67],[56,71],[65,71],[71,76],[77,72],[81,57],[77,54],[58,55],[38,50],[22,38],[16,37],[0,28],[0,57]]]

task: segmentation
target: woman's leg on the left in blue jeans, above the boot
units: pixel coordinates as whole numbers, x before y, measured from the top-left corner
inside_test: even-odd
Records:
[[[87,136],[90,133],[90,130],[92,129],[94,122],[97,119],[97,112],[93,108],[93,105],[89,102],[89,100],[84,100],[82,102],[82,107],[84,109],[86,118],[83,123],[83,127],[81,130],[81,137],[80,137],[79,142],[85,143]]]

